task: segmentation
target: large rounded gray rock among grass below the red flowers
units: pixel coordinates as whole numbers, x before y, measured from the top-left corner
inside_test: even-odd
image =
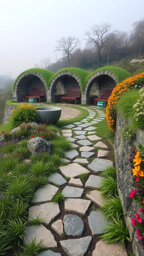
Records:
[[[41,152],[50,152],[51,143],[41,137],[32,138],[27,142],[27,148],[32,154],[40,154]]]

